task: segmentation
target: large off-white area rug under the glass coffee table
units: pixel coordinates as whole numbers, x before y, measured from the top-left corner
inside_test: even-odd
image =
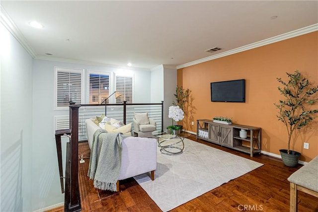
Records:
[[[149,174],[134,177],[163,212],[263,165],[188,139],[184,144],[184,152],[173,156],[158,147],[155,181]]]

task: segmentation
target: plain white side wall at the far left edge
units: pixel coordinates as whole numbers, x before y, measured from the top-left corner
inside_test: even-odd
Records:
[[[0,36],[0,211],[31,211],[33,59],[2,24]]]

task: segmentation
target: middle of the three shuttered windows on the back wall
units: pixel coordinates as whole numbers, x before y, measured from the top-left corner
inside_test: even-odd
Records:
[[[100,104],[109,95],[109,73],[89,71],[89,104]]]

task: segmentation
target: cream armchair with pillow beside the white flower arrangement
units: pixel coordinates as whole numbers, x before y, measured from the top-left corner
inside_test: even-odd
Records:
[[[157,130],[157,123],[154,119],[148,117],[148,113],[135,113],[133,118],[134,133],[138,137],[156,138],[152,132]]]

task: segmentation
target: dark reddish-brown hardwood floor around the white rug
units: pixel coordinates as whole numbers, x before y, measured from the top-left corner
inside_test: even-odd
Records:
[[[194,135],[188,139],[222,149],[264,165],[222,186],[213,189],[173,210],[171,212],[238,212],[238,211],[289,211],[289,182],[287,178],[302,167],[287,167],[277,158],[266,155],[250,157],[239,151],[196,140]],[[87,142],[79,143],[79,155],[89,157]],[[121,192],[97,190],[93,181],[87,177],[89,158],[79,164],[79,184],[81,208],[83,212],[161,212],[156,203],[133,179],[120,181]],[[299,192],[299,212],[318,212],[318,199]],[[50,212],[61,212],[59,208]]]

